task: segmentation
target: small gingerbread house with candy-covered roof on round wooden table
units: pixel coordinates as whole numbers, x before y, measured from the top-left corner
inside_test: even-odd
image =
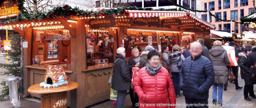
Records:
[[[61,76],[61,78],[60,78]],[[62,78],[63,77],[63,78]],[[49,65],[44,75],[44,82],[46,84],[57,84],[59,80],[67,81],[67,76],[62,66]]]

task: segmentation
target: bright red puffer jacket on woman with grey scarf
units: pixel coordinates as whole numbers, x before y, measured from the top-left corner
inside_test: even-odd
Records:
[[[141,68],[135,78],[134,89],[140,98],[140,108],[175,108],[174,87],[164,67],[155,76],[149,75],[146,67]]]

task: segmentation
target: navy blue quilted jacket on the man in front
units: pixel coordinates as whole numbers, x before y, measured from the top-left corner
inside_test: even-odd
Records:
[[[180,88],[189,99],[205,100],[214,82],[212,62],[204,56],[188,57],[183,61],[180,73]]]

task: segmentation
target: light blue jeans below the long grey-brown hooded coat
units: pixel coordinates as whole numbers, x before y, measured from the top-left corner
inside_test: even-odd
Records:
[[[217,99],[217,86],[218,86],[218,103],[222,103],[223,84],[214,83],[212,85],[212,99]]]

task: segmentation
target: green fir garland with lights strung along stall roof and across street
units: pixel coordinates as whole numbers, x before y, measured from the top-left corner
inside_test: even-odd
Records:
[[[8,0],[9,2],[12,2],[13,0]],[[53,18],[53,17],[58,17],[58,16],[67,16],[67,15],[75,15],[77,17],[102,17],[102,16],[119,16],[121,14],[124,13],[129,13],[126,10],[145,10],[145,11],[184,11],[184,10],[176,10],[176,9],[153,9],[153,8],[137,8],[137,7],[118,7],[115,9],[101,9],[100,11],[84,11],[79,9],[78,7],[75,8],[71,8],[69,5],[64,5],[64,6],[58,6],[58,7],[54,7],[53,9],[49,10],[48,12],[40,12],[40,13],[28,13],[25,10],[24,5],[24,1],[25,0],[16,0],[18,2],[18,7],[20,10],[20,14],[15,17],[15,18],[9,18],[9,19],[2,19],[0,20],[0,24],[8,24],[8,23],[14,23],[17,22],[19,23],[21,20],[31,20],[31,21],[41,21],[44,18]],[[201,11],[201,10],[194,10],[194,9],[190,9],[190,8],[186,8],[184,6],[178,5],[177,3],[170,1],[170,0],[166,0],[168,3],[183,8],[185,10],[190,10],[192,12],[209,12],[209,14],[211,16],[213,16],[215,19],[217,20],[221,20],[223,22],[230,22],[231,20],[223,20],[220,19],[218,17],[216,17],[214,14],[212,14],[210,11]],[[255,22],[256,18],[247,18],[246,16],[241,18],[241,22],[235,22],[235,23],[249,23],[249,22]]]

